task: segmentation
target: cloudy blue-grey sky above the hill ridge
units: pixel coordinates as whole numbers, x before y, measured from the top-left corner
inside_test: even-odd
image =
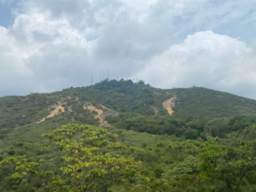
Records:
[[[255,0],[0,0],[0,96],[110,79],[256,99]]]

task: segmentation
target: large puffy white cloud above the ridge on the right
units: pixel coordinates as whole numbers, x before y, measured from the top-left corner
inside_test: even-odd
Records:
[[[256,98],[256,56],[247,45],[214,32],[196,32],[149,61],[137,76],[156,87],[209,87]],[[250,87],[251,86],[251,87]]]

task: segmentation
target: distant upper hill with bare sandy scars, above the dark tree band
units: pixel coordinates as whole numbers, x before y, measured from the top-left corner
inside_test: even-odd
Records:
[[[194,119],[256,113],[256,101],[201,87],[162,90],[131,80],[105,80],[53,93],[0,98],[0,138],[22,125],[83,123],[108,126],[103,113]]]

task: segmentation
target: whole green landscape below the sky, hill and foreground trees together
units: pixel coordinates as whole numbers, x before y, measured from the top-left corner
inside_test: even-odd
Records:
[[[0,191],[253,191],[255,125],[256,101],[199,87],[5,96]]]

